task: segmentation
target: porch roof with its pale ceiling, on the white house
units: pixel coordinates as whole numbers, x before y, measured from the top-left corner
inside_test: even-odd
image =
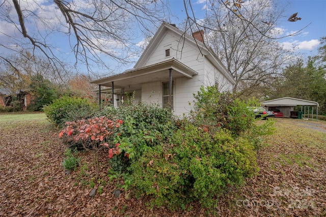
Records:
[[[125,91],[140,90],[144,83],[167,82],[170,76],[169,69],[172,69],[172,79],[177,77],[192,78],[198,74],[181,62],[171,59],[143,68],[128,70],[110,77],[93,80],[91,83],[112,87],[112,82],[114,82],[114,89],[124,89]]]

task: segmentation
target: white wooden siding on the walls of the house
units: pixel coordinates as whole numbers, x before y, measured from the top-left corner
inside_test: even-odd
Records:
[[[183,44],[179,40],[180,36],[167,32],[151,53],[145,66],[174,58],[198,73],[193,78],[173,78],[173,113],[181,117],[194,108],[195,98],[193,94],[197,94],[201,86],[214,85],[216,80],[223,86],[222,91],[226,91],[232,90],[232,84],[205,56],[201,55],[198,47],[187,43]],[[170,48],[170,57],[165,57],[165,50],[167,48]],[[168,80],[143,84],[142,101],[162,105],[162,82],[168,82]]]

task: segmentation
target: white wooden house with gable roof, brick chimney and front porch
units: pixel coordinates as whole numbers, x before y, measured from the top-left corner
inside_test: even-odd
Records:
[[[168,105],[174,114],[186,114],[194,105],[193,93],[201,86],[217,85],[220,91],[231,91],[235,85],[230,72],[204,45],[203,37],[203,31],[189,36],[164,22],[132,69],[91,83],[99,86],[99,94],[101,87],[110,88],[115,105],[125,93],[135,92],[135,101]]]

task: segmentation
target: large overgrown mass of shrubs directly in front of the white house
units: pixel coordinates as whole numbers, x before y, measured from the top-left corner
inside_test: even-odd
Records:
[[[178,209],[199,201],[211,208],[214,199],[257,173],[255,148],[273,131],[273,122],[257,124],[248,104],[215,87],[201,88],[195,98],[194,111],[182,120],[158,105],[127,103],[104,107],[94,114],[101,118],[89,119],[90,124],[98,119],[117,123],[109,127],[110,136],[101,137],[106,126],[86,126],[85,120],[69,123],[60,135],[108,147],[108,176],[122,176],[124,188],[152,196],[151,206]]]

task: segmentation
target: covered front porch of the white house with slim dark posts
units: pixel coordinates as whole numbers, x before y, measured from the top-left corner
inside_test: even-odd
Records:
[[[144,100],[145,95],[148,96],[151,89],[146,86],[144,89],[144,84],[154,84],[157,86],[159,83],[168,82],[169,83],[169,104],[171,105],[171,110],[173,109],[173,80],[180,77],[193,78],[193,76],[198,73],[193,69],[185,66],[181,62],[170,59],[164,62],[160,62],[154,65],[145,66],[139,69],[129,69],[123,73],[112,75],[109,77],[104,77],[101,79],[93,80],[91,83],[98,85],[98,103],[101,104],[101,94],[109,93],[112,94],[112,105],[117,106],[123,104],[123,96],[126,93],[136,92],[137,97],[140,100]],[[154,89],[157,90],[157,87]],[[139,93],[137,93],[139,92]],[[145,93],[145,94],[144,94]],[[161,102],[162,103],[162,102]]]

